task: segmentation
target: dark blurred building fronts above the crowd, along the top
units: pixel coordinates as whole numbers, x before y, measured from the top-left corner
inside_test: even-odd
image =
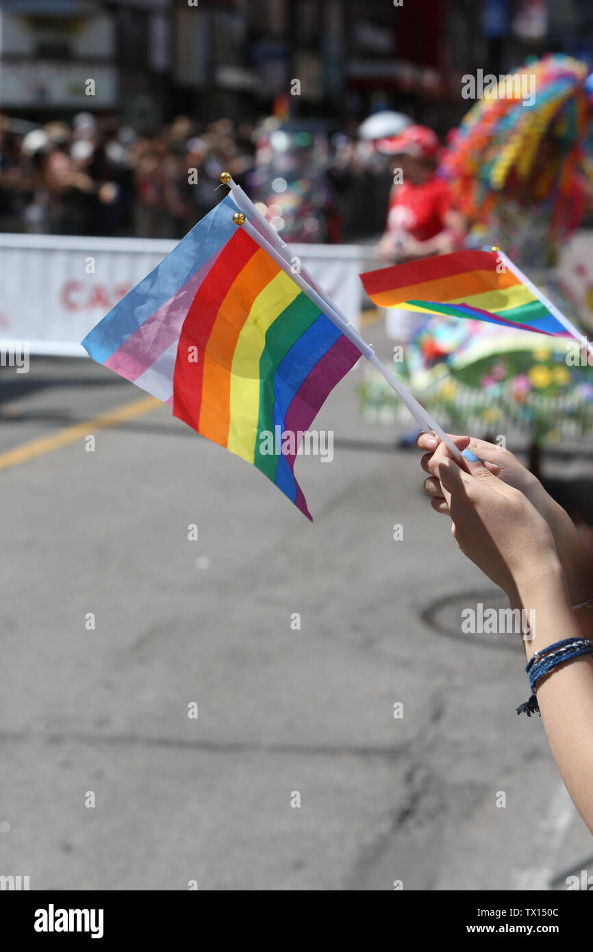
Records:
[[[180,112],[204,123],[272,111],[344,123],[385,105],[443,132],[465,109],[465,72],[511,69],[544,49],[590,57],[593,5],[0,0],[0,17],[10,114],[40,121],[111,111],[149,131]]]

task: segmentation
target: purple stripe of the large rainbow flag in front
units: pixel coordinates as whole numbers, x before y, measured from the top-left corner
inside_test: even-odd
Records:
[[[317,361],[315,367],[306,376],[292,398],[285,416],[285,430],[292,433],[307,430],[323,406],[328,394],[336,384],[340,383],[350,367],[354,367],[360,356],[361,352],[358,347],[354,347],[347,337],[341,335],[336,343],[329,347],[321,360]],[[299,444],[295,442],[295,449],[298,448]],[[285,459],[290,470],[294,472],[296,454],[293,456],[287,455]],[[297,490],[294,505],[312,522],[313,517],[308,511],[303,490],[296,477],[294,482]]]

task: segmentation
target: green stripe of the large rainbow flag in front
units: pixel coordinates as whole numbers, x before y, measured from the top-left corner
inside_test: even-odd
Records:
[[[273,411],[276,370],[287,356],[290,348],[294,347],[299,338],[318,317],[319,307],[316,307],[305,292],[301,291],[288,307],[281,311],[274,323],[267,328],[266,345],[260,359],[260,411],[253,465],[266,473],[272,481],[276,478],[279,457],[275,454],[270,456],[260,452],[259,434],[265,429],[274,432]]]

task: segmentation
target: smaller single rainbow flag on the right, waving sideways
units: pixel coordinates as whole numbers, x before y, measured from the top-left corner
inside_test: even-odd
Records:
[[[572,334],[495,251],[454,251],[392,268],[366,271],[361,280],[379,307],[402,307],[445,317],[469,317],[521,330]]]

